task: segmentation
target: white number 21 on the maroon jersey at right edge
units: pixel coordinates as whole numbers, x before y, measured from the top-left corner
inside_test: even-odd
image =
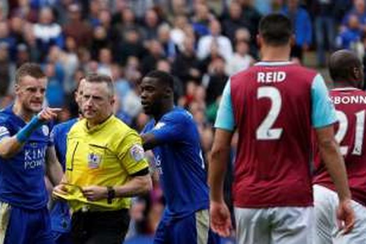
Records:
[[[337,110],[337,118],[339,121],[339,128],[335,135],[335,139],[338,143],[341,143],[346,136],[348,129],[348,119],[344,112]],[[361,155],[362,144],[364,142],[364,130],[365,130],[365,110],[355,113],[356,115],[356,131],[355,131],[355,145],[353,147],[353,155]],[[348,152],[348,146],[340,147],[341,154],[346,155]]]

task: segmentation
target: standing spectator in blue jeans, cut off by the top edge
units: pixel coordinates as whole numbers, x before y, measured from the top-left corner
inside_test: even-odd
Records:
[[[325,67],[325,44],[328,50],[334,48],[335,39],[335,3],[336,0],[314,0],[312,11],[315,15],[315,37],[318,65]]]

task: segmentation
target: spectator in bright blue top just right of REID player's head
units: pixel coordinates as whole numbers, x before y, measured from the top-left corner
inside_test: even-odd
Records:
[[[299,0],[288,0],[288,6],[282,9],[292,22],[295,31],[295,45],[291,50],[291,57],[303,60],[304,51],[309,49],[312,41],[311,20],[305,8],[299,6]]]

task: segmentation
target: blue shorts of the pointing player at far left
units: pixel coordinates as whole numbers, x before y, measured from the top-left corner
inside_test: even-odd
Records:
[[[47,207],[32,210],[0,203],[0,223],[0,243],[55,243],[52,239]]]

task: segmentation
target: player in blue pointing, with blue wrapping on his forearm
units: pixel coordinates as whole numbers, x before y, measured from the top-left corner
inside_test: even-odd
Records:
[[[62,168],[49,139],[58,108],[43,108],[47,79],[40,66],[23,64],[15,102],[0,111],[0,243],[52,244],[44,176],[58,184]]]

